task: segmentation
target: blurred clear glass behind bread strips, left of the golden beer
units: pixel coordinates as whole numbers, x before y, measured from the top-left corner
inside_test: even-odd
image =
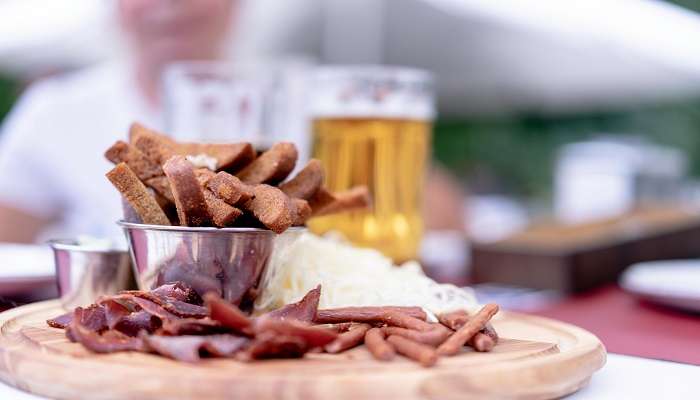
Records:
[[[307,75],[307,63],[293,60],[172,63],[162,80],[165,130],[178,140],[249,141],[258,150],[281,140],[308,145]]]

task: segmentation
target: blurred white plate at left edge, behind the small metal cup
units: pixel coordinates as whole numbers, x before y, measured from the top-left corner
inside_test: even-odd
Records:
[[[0,243],[0,296],[55,285],[53,252],[46,245]]]

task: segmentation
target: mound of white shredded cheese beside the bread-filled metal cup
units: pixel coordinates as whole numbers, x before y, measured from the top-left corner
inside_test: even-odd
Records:
[[[309,232],[280,235],[262,277],[255,312],[299,301],[321,284],[320,308],[420,306],[432,314],[477,306],[469,289],[439,284],[415,261],[395,266],[380,252]]]

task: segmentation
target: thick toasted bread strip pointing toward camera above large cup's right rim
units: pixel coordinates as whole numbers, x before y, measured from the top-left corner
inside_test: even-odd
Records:
[[[294,204],[289,196],[270,185],[253,188],[253,198],[244,208],[268,229],[282,233],[294,223]]]

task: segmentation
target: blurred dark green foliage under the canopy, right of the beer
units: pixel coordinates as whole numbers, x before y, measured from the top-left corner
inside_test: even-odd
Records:
[[[434,157],[472,190],[546,196],[557,148],[600,134],[633,134],[682,148],[691,173],[700,176],[700,99],[563,117],[439,120]]]

